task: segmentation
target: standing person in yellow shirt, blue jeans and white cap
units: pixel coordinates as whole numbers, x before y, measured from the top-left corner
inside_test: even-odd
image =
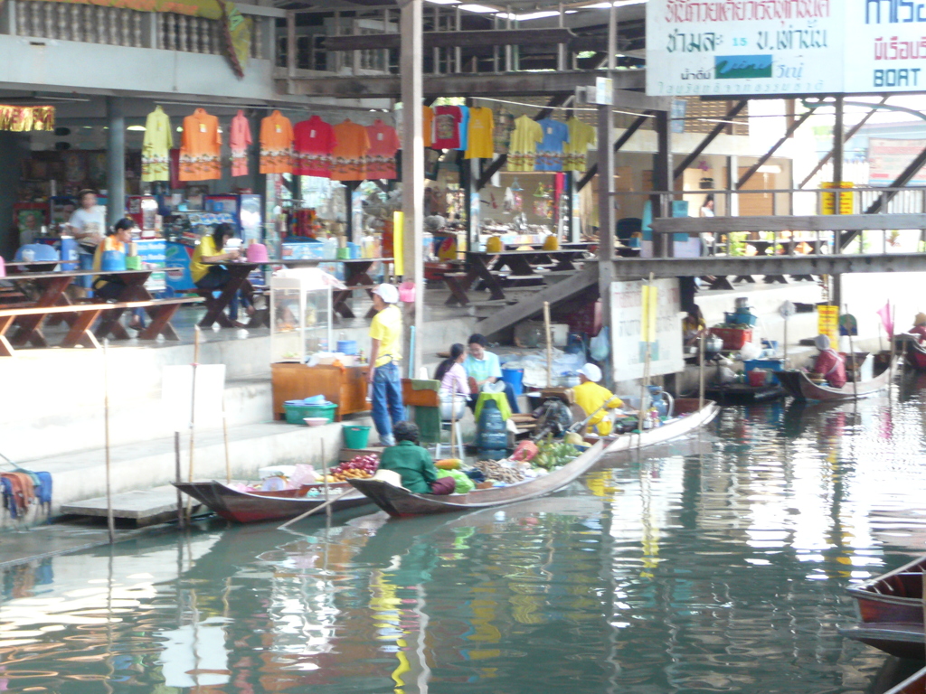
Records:
[[[402,404],[402,311],[397,304],[399,291],[391,284],[373,290],[376,316],[369,326],[369,374],[373,384],[373,423],[383,446],[394,446],[393,427],[405,419]]]

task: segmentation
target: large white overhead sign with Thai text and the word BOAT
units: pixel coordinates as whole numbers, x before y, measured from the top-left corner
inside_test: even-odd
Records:
[[[646,93],[919,92],[922,0],[649,0]]]

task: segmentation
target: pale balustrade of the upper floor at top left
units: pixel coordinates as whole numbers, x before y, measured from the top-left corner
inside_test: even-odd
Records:
[[[224,52],[217,19],[46,0],[6,0],[0,4],[0,13],[6,15],[0,21],[0,33],[17,36],[212,56]],[[265,58],[269,46],[265,46],[263,22],[268,18],[250,19],[251,57]]]

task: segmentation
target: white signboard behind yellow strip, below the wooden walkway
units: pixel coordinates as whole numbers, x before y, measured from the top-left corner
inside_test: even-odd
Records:
[[[685,366],[679,280],[657,279],[653,284],[657,288],[657,341],[650,346],[650,374],[674,374]],[[611,362],[616,381],[644,375],[643,285],[642,281],[611,284]]]

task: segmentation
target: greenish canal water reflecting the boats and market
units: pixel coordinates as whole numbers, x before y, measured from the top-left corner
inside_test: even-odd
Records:
[[[20,565],[0,690],[882,691],[904,668],[839,628],[846,586],[926,552],[915,386],[725,409],[503,509],[211,521]]]

